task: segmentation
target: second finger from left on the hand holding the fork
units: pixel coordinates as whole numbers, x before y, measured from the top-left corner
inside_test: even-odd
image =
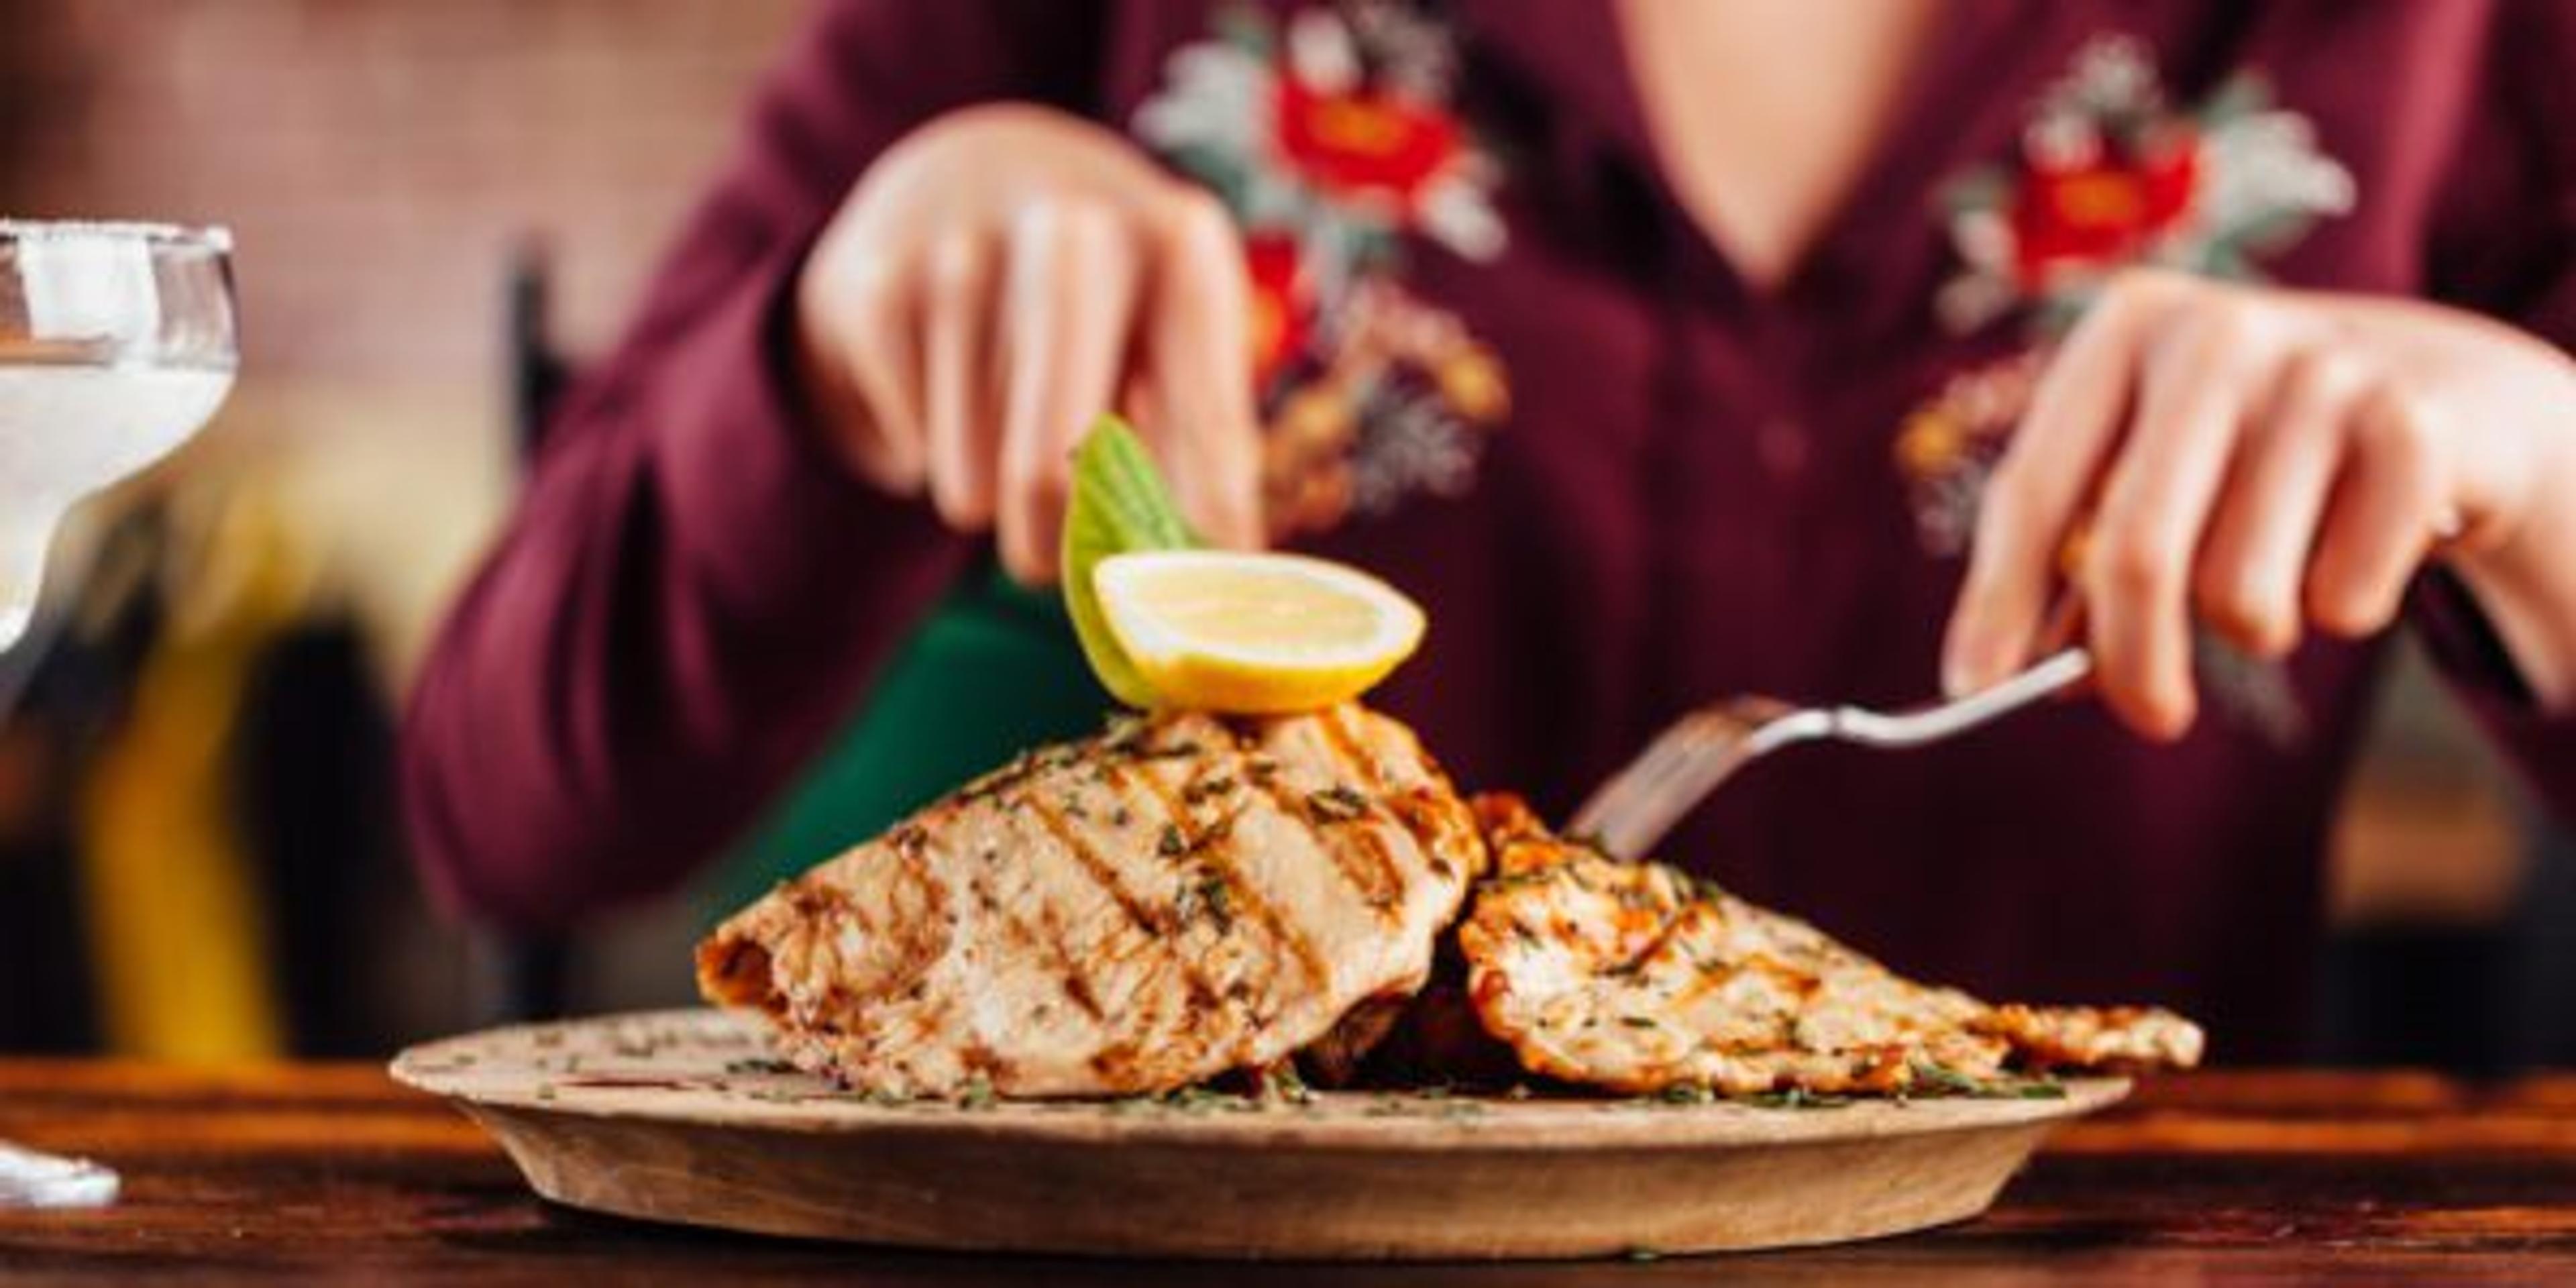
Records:
[[[2192,724],[2190,577],[2241,438],[2262,322],[2241,296],[2208,296],[2143,348],[2138,412],[2102,482],[2084,613],[2102,696],[2154,739]]]

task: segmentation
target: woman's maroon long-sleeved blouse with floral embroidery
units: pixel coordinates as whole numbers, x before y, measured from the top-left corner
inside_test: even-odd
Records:
[[[559,925],[675,884],[974,562],[824,453],[781,358],[822,222],[963,103],[1092,113],[1226,193],[1265,301],[1275,510],[1430,608],[1378,701],[1466,786],[1558,817],[1687,703],[1937,688],[1976,479],[2025,355],[2102,268],[2434,296],[2576,340],[2571,5],[1963,0],[1772,294],[1662,185],[1607,13],[827,5],[420,680],[435,886]],[[2427,574],[2411,621],[2576,804],[2576,719],[2530,708],[2465,592]],[[2380,657],[2213,657],[2174,747],[2063,703],[1919,755],[1801,750],[1669,858],[1929,979],[2166,1002],[2223,1056],[2295,1054]]]

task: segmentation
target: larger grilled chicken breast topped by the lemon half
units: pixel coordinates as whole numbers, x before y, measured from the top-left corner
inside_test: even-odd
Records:
[[[871,1090],[1162,1092],[1417,989],[1481,868],[1471,809],[1391,719],[1162,716],[778,886],[698,945],[698,987]]]

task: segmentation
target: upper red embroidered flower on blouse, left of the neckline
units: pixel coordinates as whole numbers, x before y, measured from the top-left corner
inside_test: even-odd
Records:
[[[1391,201],[1414,214],[1422,191],[1458,162],[1458,121],[1419,103],[1352,90],[1321,93],[1278,77],[1278,149],[1321,191]]]

